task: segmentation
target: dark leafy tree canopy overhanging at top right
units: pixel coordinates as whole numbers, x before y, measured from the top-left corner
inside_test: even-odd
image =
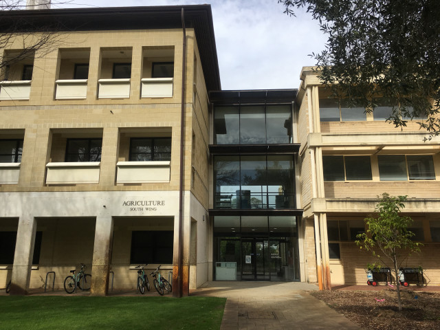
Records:
[[[373,111],[393,105],[396,127],[419,119],[440,133],[440,1],[278,0],[295,15],[306,8],[329,39],[312,54],[333,96]]]

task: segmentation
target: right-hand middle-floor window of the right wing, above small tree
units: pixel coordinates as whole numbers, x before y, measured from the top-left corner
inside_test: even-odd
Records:
[[[431,155],[378,155],[377,162],[381,181],[435,179]]]

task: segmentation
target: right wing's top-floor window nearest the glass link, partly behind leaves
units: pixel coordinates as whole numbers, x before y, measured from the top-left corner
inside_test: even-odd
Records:
[[[340,102],[335,98],[319,100],[321,122],[359,122],[366,120],[364,107],[349,107],[347,100]]]

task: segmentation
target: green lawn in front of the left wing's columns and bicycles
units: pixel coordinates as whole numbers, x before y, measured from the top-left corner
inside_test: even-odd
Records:
[[[225,298],[0,296],[0,329],[220,329]]]

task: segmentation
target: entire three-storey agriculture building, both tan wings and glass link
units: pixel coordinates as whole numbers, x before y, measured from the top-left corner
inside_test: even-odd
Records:
[[[222,91],[209,5],[8,12],[1,32],[13,22],[51,43],[0,54],[0,287],[63,289],[80,263],[95,295],[135,290],[144,263],[175,296],[365,283],[353,234],[382,192],[410,197],[425,247],[408,267],[440,284],[440,144],[415,122],[340,107],[310,67],[298,90]]]

